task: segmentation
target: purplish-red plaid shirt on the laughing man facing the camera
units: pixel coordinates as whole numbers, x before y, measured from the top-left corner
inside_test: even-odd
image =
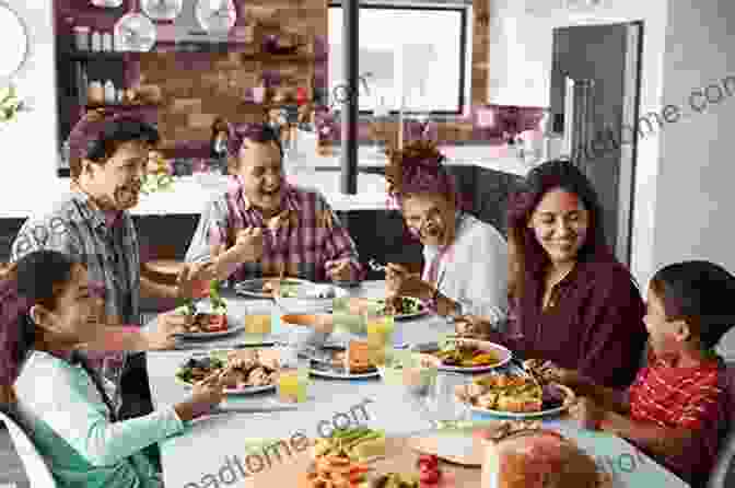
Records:
[[[268,229],[262,214],[243,191],[238,176],[230,178],[228,190],[209,202],[187,253],[187,260],[209,259],[212,246],[235,243],[237,232],[246,228],[264,229],[264,255],[257,263],[243,263],[231,278],[236,281],[278,276],[325,281],[326,263],[350,259],[358,276],[364,275],[354,242],[316,190],[283,186],[281,224]]]

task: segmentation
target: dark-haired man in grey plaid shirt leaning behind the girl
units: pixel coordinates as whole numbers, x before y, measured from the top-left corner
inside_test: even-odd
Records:
[[[104,290],[106,324],[139,328],[141,292],[152,298],[187,297],[197,288],[195,279],[205,276],[202,266],[187,270],[178,287],[160,286],[140,276],[138,236],[128,210],[138,205],[148,153],[158,143],[159,131],[135,117],[92,114],[73,132],[79,151],[70,162],[71,191],[48,212],[31,217],[23,224],[12,244],[11,260],[42,248],[73,257],[86,266],[91,280]],[[162,314],[159,329],[173,332],[183,321],[175,312]],[[142,333],[144,337],[148,334]],[[160,347],[166,346],[143,341],[143,350]],[[116,349],[115,345],[109,348]],[[107,386],[120,417],[152,411],[141,353],[110,352],[98,365],[110,381]]]

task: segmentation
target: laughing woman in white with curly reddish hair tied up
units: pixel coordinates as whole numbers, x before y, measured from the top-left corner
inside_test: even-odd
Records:
[[[443,160],[425,141],[390,154],[388,194],[424,246],[424,268],[419,276],[388,264],[387,293],[424,300],[440,315],[500,323],[508,316],[508,244],[495,228],[460,210]]]

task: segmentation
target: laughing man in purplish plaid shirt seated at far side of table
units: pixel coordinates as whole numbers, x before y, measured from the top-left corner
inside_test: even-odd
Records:
[[[212,259],[221,280],[362,280],[354,242],[324,196],[285,181],[278,135],[253,125],[235,136],[229,188],[202,212],[187,260]]]

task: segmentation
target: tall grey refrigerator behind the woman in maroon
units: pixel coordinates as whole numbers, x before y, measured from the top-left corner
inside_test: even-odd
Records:
[[[562,155],[590,178],[608,245],[630,266],[643,23],[553,31],[550,120]]]

